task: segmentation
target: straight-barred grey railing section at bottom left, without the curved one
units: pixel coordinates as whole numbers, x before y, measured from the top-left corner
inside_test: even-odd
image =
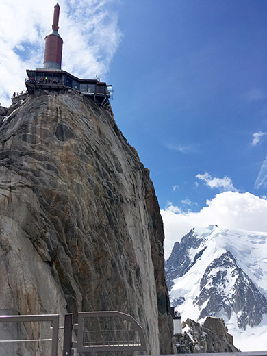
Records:
[[[2,342],[51,342],[51,356],[58,356],[58,329],[59,314],[47,315],[18,315],[0,316],[1,322],[52,322],[52,338],[49,339],[19,339],[19,340],[0,340]]]

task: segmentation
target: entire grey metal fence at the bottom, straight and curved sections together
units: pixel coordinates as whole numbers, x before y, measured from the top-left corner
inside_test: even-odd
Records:
[[[74,348],[78,353],[92,355],[103,351],[126,351],[132,355],[133,351],[146,350],[142,327],[131,316],[120,312],[79,312],[77,324],[73,324],[73,314],[65,314],[64,327],[59,327],[58,314],[0,316],[0,323],[8,322],[51,322],[52,338],[0,340],[0,344],[51,342],[51,356],[58,356],[59,329],[64,329],[64,356],[72,355]],[[77,331],[77,341],[73,341],[73,330]]]

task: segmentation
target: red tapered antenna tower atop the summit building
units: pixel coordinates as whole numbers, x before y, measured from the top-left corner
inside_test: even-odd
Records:
[[[63,40],[58,33],[60,5],[55,5],[52,31],[46,36],[44,44],[44,63],[42,68],[61,69]]]

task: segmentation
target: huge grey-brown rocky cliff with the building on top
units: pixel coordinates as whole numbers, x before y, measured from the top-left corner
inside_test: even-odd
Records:
[[[119,310],[172,353],[160,209],[110,106],[47,93],[0,114],[0,313]]]

